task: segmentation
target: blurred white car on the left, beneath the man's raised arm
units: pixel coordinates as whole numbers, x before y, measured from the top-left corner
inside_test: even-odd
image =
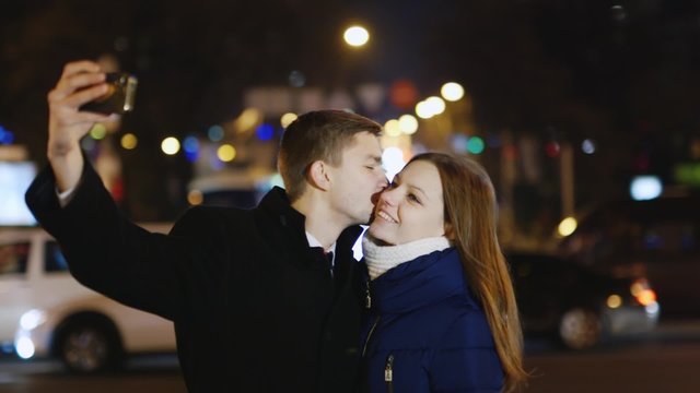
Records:
[[[71,371],[91,373],[119,366],[128,354],[176,346],[171,321],[88,289],[45,230],[13,227],[0,228],[0,348],[24,359],[57,357]]]

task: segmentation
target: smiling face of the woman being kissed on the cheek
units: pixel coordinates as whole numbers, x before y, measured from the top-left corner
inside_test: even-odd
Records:
[[[370,235],[389,245],[402,245],[445,234],[442,182],[430,162],[407,165],[382,192]]]

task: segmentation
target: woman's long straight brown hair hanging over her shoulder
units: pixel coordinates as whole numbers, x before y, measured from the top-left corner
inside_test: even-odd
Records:
[[[517,391],[527,379],[523,332],[513,283],[498,242],[493,184],[483,167],[466,157],[425,153],[415,160],[432,163],[440,172],[447,235],[459,251],[467,281],[491,326],[505,372],[504,391]]]

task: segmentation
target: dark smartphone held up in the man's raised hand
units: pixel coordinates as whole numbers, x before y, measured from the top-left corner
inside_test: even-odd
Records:
[[[136,87],[138,79],[128,72],[109,72],[106,74],[105,83],[109,86],[107,93],[80,107],[80,110],[98,114],[124,115],[133,110],[136,98]]]

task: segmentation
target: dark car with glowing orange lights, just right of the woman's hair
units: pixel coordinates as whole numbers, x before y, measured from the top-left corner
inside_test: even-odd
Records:
[[[555,254],[509,252],[506,260],[526,337],[555,337],[565,348],[651,332],[661,306],[643,277],[600,275]]]

